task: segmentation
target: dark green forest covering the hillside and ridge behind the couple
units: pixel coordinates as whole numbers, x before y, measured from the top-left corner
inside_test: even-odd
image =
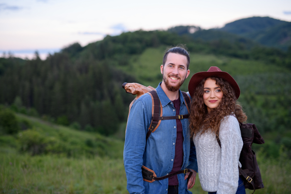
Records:
[[[184,43],[190,52],[253,59],[291,69],[291,49],[249,47],[243,40],[202,41],[166,31],[126,32],[85,47],[75,43],[41,60],[0,58],[0,104],[76,129],[113,134],[126,121],[132,96],[123,82],[137,75],[116,68],[147,48]],[[161,58],[162,62],[162,58]]]

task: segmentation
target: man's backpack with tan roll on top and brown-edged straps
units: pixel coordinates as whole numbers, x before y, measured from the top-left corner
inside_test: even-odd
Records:
[[[190,97],[185,92],[182,92],[182,95],[183,95],[183,98],[186,102],[185,104],[186,104],[186,107],[188,110],[188,114],[183,114],[183,115],[181,114],[181,115],[177,115],[177,116],[162,116],[162,104],[161,104],[160,98],[158,97],[156,90],[153,87],[151,87],[151,86],[146,87],[146,86],[141,85],[139,83],[127,83],[127,82],[123,83],[122,87],[125,89],[125,91],[127,93],[132,94],[132,95],[137,95],[137,97],[135,97],[134,100],[129,105],[129,113],[130,113],[130,108],[133,105],[133,103],[142,95],[148,93],[152,98],[152,104],[153,104],[153,106],[152,106],[153,107],[152,108],[152,119],[151,119],[151,123],[150,123],[149,128],[148,128],[148,131],[146,133],[146,141],[147,141],[148,137],[150,136],[150,134],[153,133],[159,127],[162,120],[189,118],[191,100],[190,100]],[[180,171],[173,173],[173,174],[169,174],[169,175],[162,176],[162,177],[157,177],[153,170],[147,168],[144,165],[142,166],[143,179],[146,182],[150,182],[150,183],[155,181],[155,180],[162,180],[165,178],[173,177],[173,176],[178,175],[178,174],[182,174],[182,173],[186,174],[188,172],[190,172],[190,175],[188,177],[188,178],[190,178],[192,175],[192,171],[187,169],[187,168],[184,170],[180,170]]]

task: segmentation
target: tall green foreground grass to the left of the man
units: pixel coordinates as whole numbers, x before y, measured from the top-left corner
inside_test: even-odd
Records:
[[[1,194],[126,194],[122,159],[0,153]]]

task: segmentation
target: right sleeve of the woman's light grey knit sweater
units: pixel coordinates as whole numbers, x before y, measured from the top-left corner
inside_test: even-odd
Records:
[[[235,194],[239,180],[239,156],[242,145],[239,122],[234,116],[223,119],[219,129],[221,167],[217,194]]]

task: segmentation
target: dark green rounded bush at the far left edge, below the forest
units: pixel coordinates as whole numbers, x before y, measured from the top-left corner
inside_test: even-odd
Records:
[[[0,110],[0,133],[14,134],[19,130],[19,126],[14,113],[8,109]]]

